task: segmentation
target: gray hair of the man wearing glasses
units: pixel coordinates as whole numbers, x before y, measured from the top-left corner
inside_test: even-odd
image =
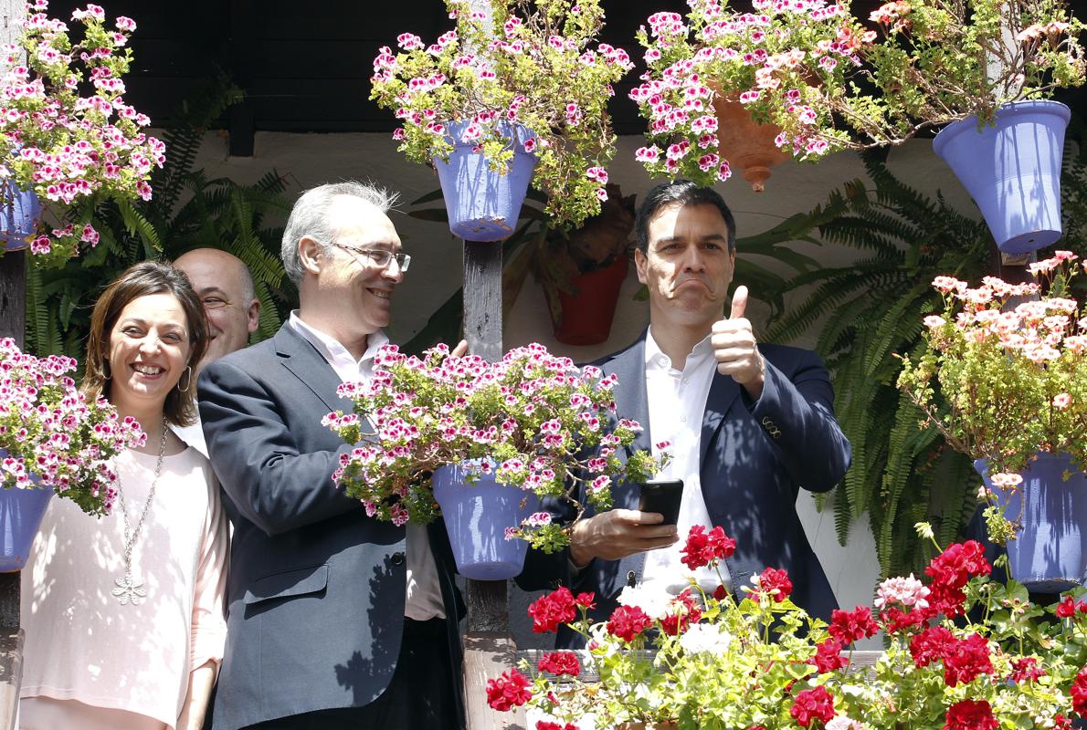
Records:
[[[287,227],[283,231],[283,248],[279,256],[288,278],[299,285],[302,282],[302,264],[298,260],[298,242],[303,237],[310,237],[321,243],[327,251],[336,240],[336,230],[329,219],[328,210],[333,202],[341,197],[359,198],[376,206],[382,213],[388,213],[397,202],[399,194],[375,182],[328,182],[303,192],[295,202],[295,207],[287,218]]]

